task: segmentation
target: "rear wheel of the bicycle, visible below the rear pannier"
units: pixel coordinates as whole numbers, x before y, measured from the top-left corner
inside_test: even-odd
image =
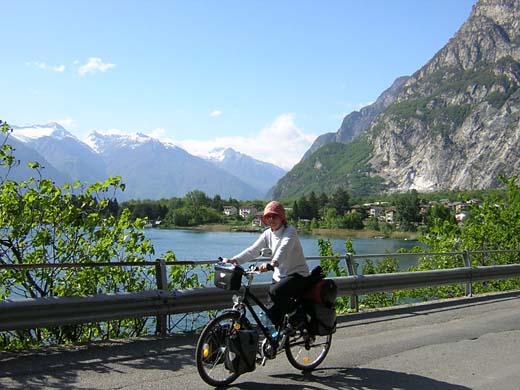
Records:
[[[332,335],[315,336],[306,329],[290,336],[285,344],[285,354],[294,368],[302,371],[318,367],[329,353]]]

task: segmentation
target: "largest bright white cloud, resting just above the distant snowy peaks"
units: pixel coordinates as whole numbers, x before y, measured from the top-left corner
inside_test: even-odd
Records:
[[[292,114],[283,114],[273,123],[250,137],[229,136],[213,140],[171,141],[195,155],[207,155],[218,147],[230,147],[257,160],[270,162],[284,169],[291,169],[310,148],[316,135],[306,134],[294,123]]]

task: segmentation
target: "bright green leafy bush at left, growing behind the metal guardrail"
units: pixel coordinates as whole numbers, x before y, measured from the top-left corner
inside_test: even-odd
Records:
[[[154,248],[144,236],[141,219],[130,211],[113,213],[114,198],[124,190],[119,177],[91,185],[56,186],[29,166],[36,178],[16,182],[9,174],[18,162],[8,144],[11,129],[1,123],[0,262],[10,264],[70,264],[141,262],[152,260]],[[11,294],[41,298],[144,291],[154,288],[150,268],[81,267],[14,268],[0,272],[0,299]],[[175,279],[179,280],[179,279]],[[172,280],[174,282],[174,280]],[[146,333],[146,319],[124,319],[49,329],[1,332],[2,348],[70,343]]]

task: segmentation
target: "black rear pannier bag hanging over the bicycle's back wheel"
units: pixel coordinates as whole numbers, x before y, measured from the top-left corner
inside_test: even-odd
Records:
[[[305,294],[307,329],[318,336],[336,332],[336,297],[338,287],[331,279],[322,279]]]

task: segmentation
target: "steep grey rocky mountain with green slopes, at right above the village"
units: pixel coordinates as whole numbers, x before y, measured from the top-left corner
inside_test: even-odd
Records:
[[[468,20],[353,140],[307,156],[272,191],[480,189],[520,171],[520,0],[479,0]],[[330,140],[330,139],[329,139]]]

